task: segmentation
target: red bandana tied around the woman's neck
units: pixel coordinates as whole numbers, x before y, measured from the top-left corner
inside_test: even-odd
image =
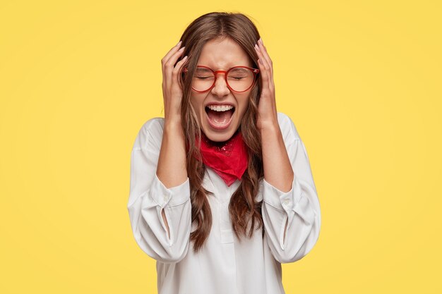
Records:
[[[225,181],[227,186],[241,176],[247,169],[248,153],[239,130],[226,142],[213,142],[203,134],[201,156],[203,164],[210,166]]]

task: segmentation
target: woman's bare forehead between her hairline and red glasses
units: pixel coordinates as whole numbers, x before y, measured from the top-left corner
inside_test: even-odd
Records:
[[[233,39],[212,39],[204,44],[198,66],[227,70],[232,66],[252,66],[249,55]]]

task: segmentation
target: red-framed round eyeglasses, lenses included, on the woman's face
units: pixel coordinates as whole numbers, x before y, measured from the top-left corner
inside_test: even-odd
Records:
[[[184,68],[183,71],[187,73],[188,69]],[[228,71],[213,71],[208,66],[196,66],[192,78],[192,89],[196,92],[206,92],[212,89],[215,86],[217,73],[225,74],[226,85],[233,92],[246,92],[253,86],[259,70],[248,66],[234,66]]]

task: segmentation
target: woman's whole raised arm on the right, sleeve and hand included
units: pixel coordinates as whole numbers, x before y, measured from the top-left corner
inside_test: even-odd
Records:
[[[273,63],[262,39],[255,49],[262,81],[257,126],[263,151],[265,235],[278,262],[295,262],[318,240],[318,196],[304,143],[292,121],[277,114]]]

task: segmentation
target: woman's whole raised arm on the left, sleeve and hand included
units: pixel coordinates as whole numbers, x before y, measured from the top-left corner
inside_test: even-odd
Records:
[[[162,59],[165,119],[143,125],[131,155],[129,216],[138,245],[150,257],[177,262],[189,248],[191,201],[179,106],[179,45]],[[177,63],[175,65],[175,63]],[[175,65],[175,66],[174,66]]]

